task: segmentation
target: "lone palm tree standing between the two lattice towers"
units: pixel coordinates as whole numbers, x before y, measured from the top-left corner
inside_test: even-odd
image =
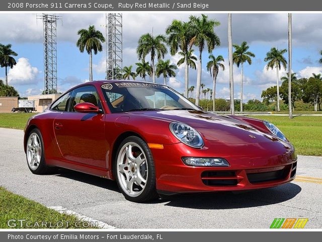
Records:
[[[90,82],[93,81],[93,62],[92,62],[92,51],[97,54],[98,51],[102,51],[102,43],[105,42],[103,34],[95,29],[94,25],[90,25],[88,29],[80,29],[77,34],[79,39],[76,42],[76,46],[82,53],[84,49],[90,55]]]

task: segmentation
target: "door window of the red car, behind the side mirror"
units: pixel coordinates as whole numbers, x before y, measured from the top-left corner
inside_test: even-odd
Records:
[[[71,111],[74,112],[74,106],[78,103],[89,102],[102,109],[97,91],[93,86],[79,87],[73,91]]]

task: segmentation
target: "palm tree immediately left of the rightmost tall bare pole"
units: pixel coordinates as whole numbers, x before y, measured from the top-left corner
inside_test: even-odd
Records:
[[[278,50],[277,48],[273,47],[269,52],[267,52],[266,57],[264,59],[265,62],[268,62],[266,69],[268,70],[269,68],[276,68],[276,77],[277,77],[277,111],[280,111],[280,92],[279,92],[279,77],[278,77],[278,71],[281,70],[281,64],[283,68],[286,70],[286,58],[283,56],[287,52],[287,49],[281,49]]]

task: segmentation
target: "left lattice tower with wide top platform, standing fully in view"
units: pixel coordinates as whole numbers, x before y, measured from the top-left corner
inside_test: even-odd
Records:
[[[56,28],[57,20],[62,17],[42,14],[37,19],[42,20],[44,31],[44,94],[52,94],[57,92]]]

